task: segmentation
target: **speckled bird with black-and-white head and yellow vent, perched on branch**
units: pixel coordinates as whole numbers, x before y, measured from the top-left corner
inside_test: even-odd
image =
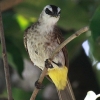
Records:
[[[34,24],[24,33],[24,45],[33,64],[41,70],[45,61],[53,51],[64,41],[57,22],[61,9],[55,5],[46,5]],[[60,100],[75,100],[73,90],[68,79],[68,53],[66,47],[53,58],[52,68],[48,68],[47,75],[55,84]]]

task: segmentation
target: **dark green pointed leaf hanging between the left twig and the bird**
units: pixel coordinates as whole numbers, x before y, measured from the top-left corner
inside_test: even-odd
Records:
[[[7,38],[6,43],[7,51],[11,55],[8,56],[8,59],[12,59],[15,65],[12,62],[10,64],[12,65],[12,67],[17,69],[19,75],[21,76],[24,69],[22,53],[20,52],[19,48],[11,41],[11,39]]]

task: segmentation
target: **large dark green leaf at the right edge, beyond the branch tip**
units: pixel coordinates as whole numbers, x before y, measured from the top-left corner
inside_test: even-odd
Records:
[[[100,61],[100,6],[91,19],[90,30],[92,35],[89,40],[90,50],[94,58]]]

